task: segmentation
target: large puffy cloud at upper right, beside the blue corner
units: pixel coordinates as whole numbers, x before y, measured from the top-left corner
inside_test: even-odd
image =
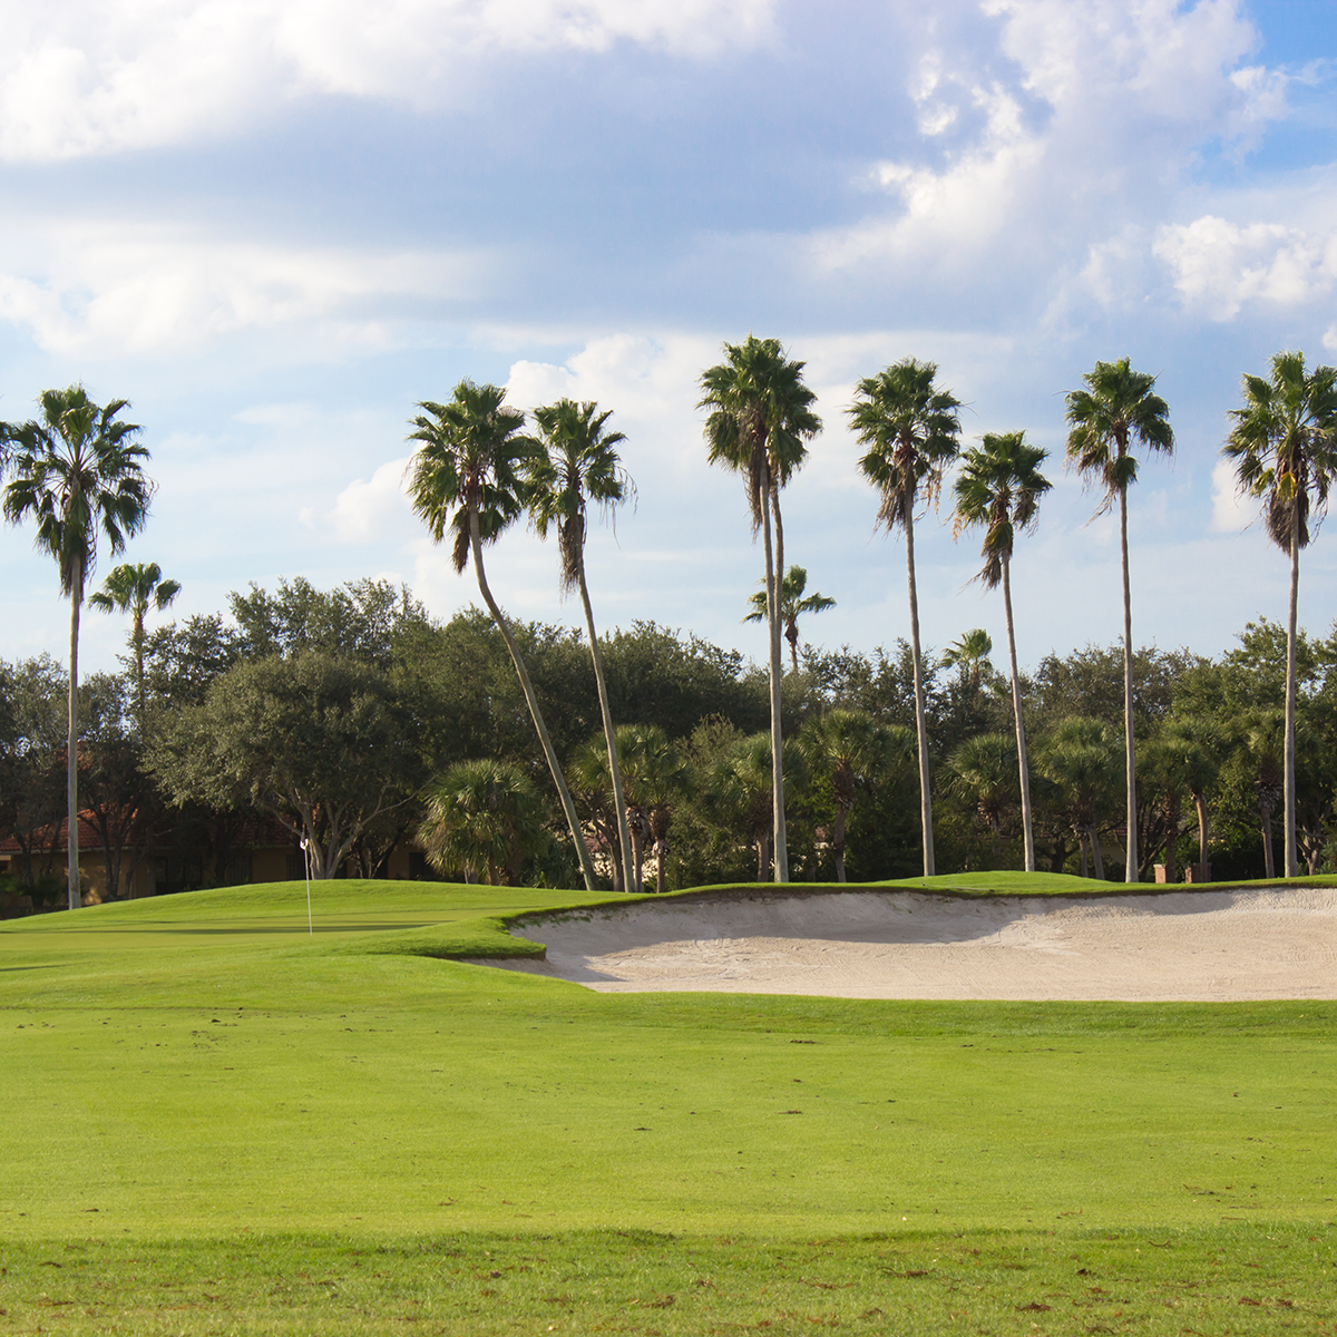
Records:
[[[906,87],[921,150],[869,170],[894,209],[818,235],[805,262],[885,267],[976,301],[997,285],[1067,285],[1127,305],[1197,155],[1251,144],[1285,114],[1286,82],[1242,64],[1255,35],[1237,0],[981,8],[996,25],[973,44],[944,48],[923,20]]]

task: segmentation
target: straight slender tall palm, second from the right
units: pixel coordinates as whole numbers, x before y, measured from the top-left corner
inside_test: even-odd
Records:
[[[1174,453],[1170,409],[1151,390],[1154,376],[1134,372],[1128,360],[1096,362],[1084,390],[1068,394],[1068,464],[1104,496],[1096,515],[1119,500],[1119,556],[1123,563],[1123,747],[1127,767],[1128,840],[1123,880],[1138,881],[1138,787],[1132,743],[1132,595],[1128,584],[1128,488],[1138,480],[1134,443]]]

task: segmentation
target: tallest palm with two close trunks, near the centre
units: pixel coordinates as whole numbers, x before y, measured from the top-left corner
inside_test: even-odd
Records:
[[[701,373],[701,400],[709,409],[706,444],[711,464],[742,473],[753,533],[762,532],[766,556],[766,618],[770,631],[771,821],[775,881],[789,881],[785,838],[783,738],[779,726],[781,607],[777,572],[785,571],[785,527],[779,489],[808,456],[805,441],[822,429],[813,412],[817,396],[804,385],[804,364],[785,357],[779,340],[749,334],[725,344],[725,361]],[[771,521],[775,539],[771,544]]]

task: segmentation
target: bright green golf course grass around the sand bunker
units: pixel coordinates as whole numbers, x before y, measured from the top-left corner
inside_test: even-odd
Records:
[[[1019,876],[936,881],[1090,889]],[[308,935],[279,884],[5,924],[0,1333],[1334,1330],[1337,1003],[436,959],[591,900],[324,884]]]

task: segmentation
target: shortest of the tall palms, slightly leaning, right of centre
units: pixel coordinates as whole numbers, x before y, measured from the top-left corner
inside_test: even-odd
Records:
[[[984,527],[980,555],[984,566],[977,580],[985,590],[1003,587],[1007,619],[1008,667],[1012,675],[1012,722],[1016,729],[1017,778],[1021,785],[1021,832],[1025,870],[1035,872],[1035,826],[1031,814],[1031,771],[1025,755],[1025,725],[1021,722],[1021,679],[1016,668],[1016,630],[1012,622],[1012,547],[1017,529],[1032,529],[1040,497],[1050,480],[1040,465],[1050,452],[1028,445],[1024,432],[987,432],[980,444],[965,452],[956,479],[955,533]]]

